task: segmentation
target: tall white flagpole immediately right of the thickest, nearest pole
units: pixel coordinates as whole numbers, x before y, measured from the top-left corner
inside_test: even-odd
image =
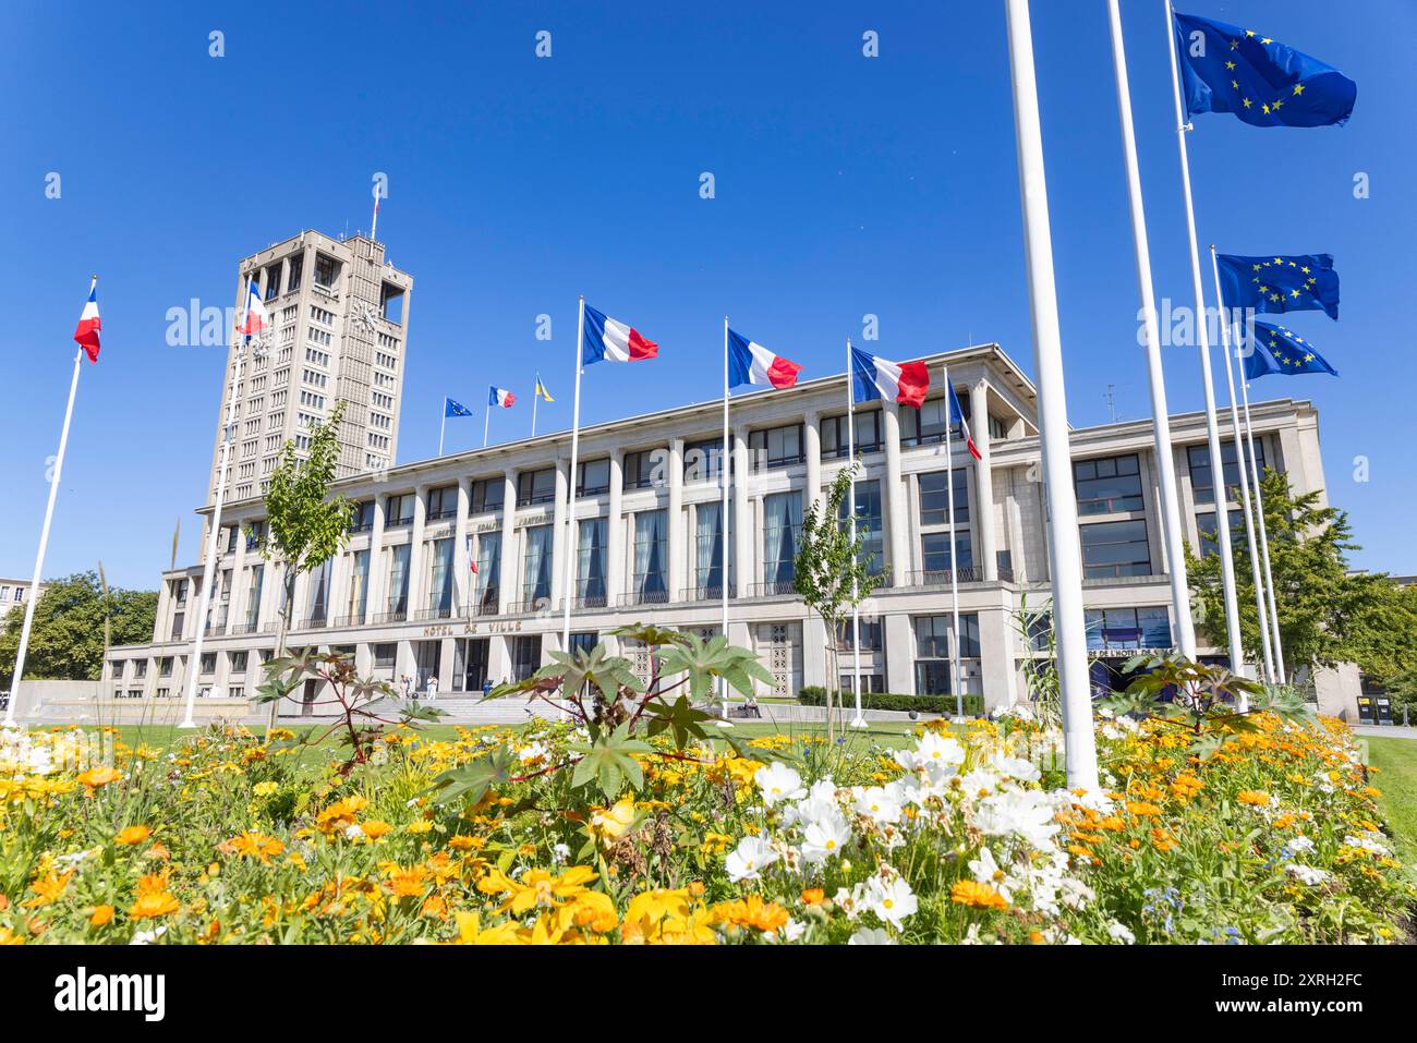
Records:
[[[1142,180],[1136,163],[1136,132],[1132,128],[1132,94],[1127,77],[1127,51],[1122,44],[1122,16],[1118,0],[1108,0],[1112,28],[1112,65],[1117,72],[1117,106],[1122,119],[1122,156],[1127,160],[1127,194],[1132,208],[1132,239],[1136,247],[1136,281],[1142,298],[1142,332],[1146,339],[1146,374],[1151,383],[1153,452],[1161,485],[1162,534],[1166,541],[1166,571],[1170,574],[1170,614],[1175,619],[1176,645],[1189,659],[1196,658],[1196,626],[1190,618],[1190,588],[1186,554],[1182,548],[1180,497],[1176,493],[1176,455],[1170,444],[1170,411],[1166,407],[1166,374],[1161,363],[1161,336],[1156,329],[1156,291],[1152,286],[1151,247],[1146,241],[1146,211]]]

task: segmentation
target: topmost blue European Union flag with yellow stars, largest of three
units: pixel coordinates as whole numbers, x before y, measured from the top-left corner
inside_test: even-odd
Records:
[[[1248,28],[1176,14],[1186,115],[1233,112],[1251,126],[1346,123],[1357,84]]]

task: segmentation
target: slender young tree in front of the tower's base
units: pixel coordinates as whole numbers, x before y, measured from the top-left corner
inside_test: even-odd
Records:
[[[271,472],[261,557],[279,573],[285,594],[276,621],[275,659],[285,656],[285,636],[295,611],[295,581],[302,573],[329,561],[349,543],[354,504],[344,496],[330,496],[343,417],[344,402],[339,402],[329,419],[310,428],[310,448],[305,459],[298,455],[295,442],[286,442],[281,449],[281,463]],[[279,700],[271,703],[271,727],[275,727],[279,707]]]

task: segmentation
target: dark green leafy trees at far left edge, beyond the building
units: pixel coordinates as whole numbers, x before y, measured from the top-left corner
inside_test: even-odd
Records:
[[[103,672],[105,632],[115,645],[153,639],[157,618],[156,591],[105,591],[95,571],[45,581],[34,605],[24,676],[61,680],[98,680]],[[20,649],[24,609],[14,607],[0,629],[0,677],[10,687],[14,656]]]

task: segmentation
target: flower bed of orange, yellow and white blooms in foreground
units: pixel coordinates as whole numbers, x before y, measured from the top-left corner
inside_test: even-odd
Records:
[[[1403,940],[1417,893],[1346,727],[1258,724],[1202,758],[1101,720],[1093,794],[1061,788],[1056,731],[1012,716],[901,750],[660,735],[602,805],[560,769],[584,750],[567,724],[400,728],[353,771],[282,731],[119,745],[112,767],[10,731],[0,941]],[[431,788],[479,761],[497,769],[475,801]]]

